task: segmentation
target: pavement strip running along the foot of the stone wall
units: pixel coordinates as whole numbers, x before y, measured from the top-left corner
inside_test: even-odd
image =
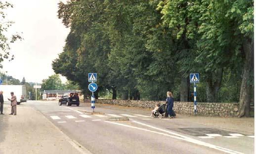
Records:
[[[90,106],[90,103],[83,103],[85,106]],[[133,107],[123,107],[117,105],[99,104],[96,103],[95,107],[102,107],[107,109],[118,109],[118,110],[132,110],[143,112],[145,115],[150,115],[152,109],[142,109]],[[177,114],[178,119],[182,123],[197,123],[208,127],[215,127],[225,130],[236,130],[239,132],[255,133],[254,129],[254,117],[210,117],[210,116],[190,116]]]

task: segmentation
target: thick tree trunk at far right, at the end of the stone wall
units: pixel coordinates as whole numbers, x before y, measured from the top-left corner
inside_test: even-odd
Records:
[[[250,74],[254,71],[254,43],[250,43],[248,40],[245,40],[243,42],[243,50],[245,53],[245,63],[240,89],[239,110],[237,113],[238,117],[250,116],[250,104],[252,97],[250,95],[250,89],[253,89],[252,84],[250,83]]]

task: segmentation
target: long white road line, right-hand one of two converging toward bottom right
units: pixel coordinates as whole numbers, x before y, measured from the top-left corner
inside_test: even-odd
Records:
[[[135,122],[135,123],[138,123],[138,124],[141,124],[141,125],[144,125],[144,126],[148,126],[150,128],[154,128],[154,129],[157,129],[157,130],[160,130],[160,131],[163,131],[163,132],[167,132],[167,133],[172,134],[172,135],[176,135],[176,136],[179,137],[177,139],[184,140],[184,141],[194,143],[194,144],[197,144],[197,145],[213,148],[215,150],[219,150],[219,151],[222,151],[222,152],[225,152],[225,153],[228,153],[228,154],[243,154],[243,153],[240,153],[240,152],[236,152],[236,151],[233,151],[233,150],[229,150],[229,149],[226,149],[226,148],[215,146],[215,145],[212,145],[212,144],[209,144],[209,143],[206,143],[206,142],[202,142],[202,141],[199,141],[199,140],[196,140],[196,139],[184,136],[184,135],[180,135],[180,134],[177,134],[177,133],[165,130],[165,129],[161,129],[161,128],[157,128],[157,127],[145,124],[145,123],[141,123],[141,122],[138,122],[138,121],[135,121],[135,120],[132,120],[132,122]]]

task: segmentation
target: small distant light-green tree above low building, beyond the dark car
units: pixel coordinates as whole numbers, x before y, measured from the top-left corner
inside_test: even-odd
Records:
[[[42,90],[62,90],[63,85],[59,75],[52,75],[43,79]]]

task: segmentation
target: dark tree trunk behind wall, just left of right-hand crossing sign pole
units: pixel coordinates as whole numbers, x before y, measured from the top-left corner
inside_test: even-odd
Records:
[[[189,99],[189,77],[181,77],[180,101],[188,102]]]

